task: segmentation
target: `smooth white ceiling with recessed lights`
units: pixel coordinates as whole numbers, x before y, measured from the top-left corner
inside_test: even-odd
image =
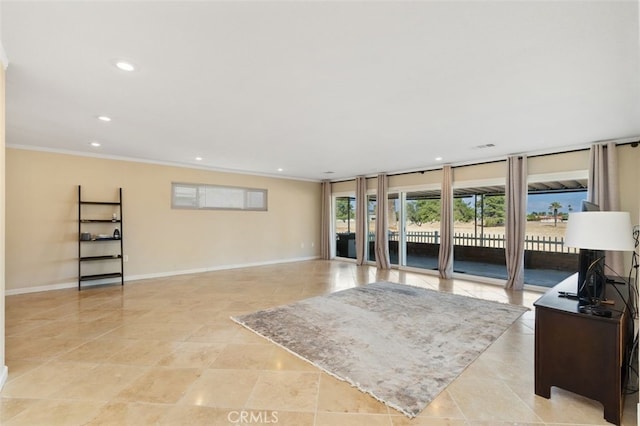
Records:
[[[4,1],[7,145],[336,180],[637,137],[638,16],[636,1]]]

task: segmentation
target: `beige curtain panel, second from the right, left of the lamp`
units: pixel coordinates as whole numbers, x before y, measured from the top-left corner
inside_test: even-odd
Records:
[[[507,158],[505,188],[507,215],[505,227],[506,288],[524,288],[524,234],[527,226],[527,157]]]

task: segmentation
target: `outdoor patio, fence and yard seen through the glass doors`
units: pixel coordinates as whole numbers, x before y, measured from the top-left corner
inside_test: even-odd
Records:
[[[554,197],[560,194],[554,194]],[[573,199],[584,198],[584,193],[570,194]],[[530,196],[535,200],[536,197]],[[489,198],[489,197],[487,197]],[[502,204],[504,196],[493,196]],[[540,197],[538,197],[540,198]],[[546,204],[541,211],[530,210],[528,214],[525,236],[525,283],[552,287],[559,281],[572,275],[578,270],[578,254],[574,248],[564,245],[564,234],[568,212],[573,210],[571,202],[579,205],[579,202],[562,200]],[[375,200],[373,201],[375,205]],[[405,236],[401,238],[399,201],[390,199],[389,206],[389,254],[392,265],[399,265],[399,248],[401,241],[405,244],[405,260],[402,266],[413,268],[437,270],[438,249],[440,243],[439,200],[426,200],[420,202],[425,211],[436,211],[436,215],[423,215],[422,218],[415,214],[407,214],[405,224]],[[425,203],[438,204],[426,207]],[[372,211],[371,202],[369,206]],[[416,211],[416,204],[407,202],[408,212]],[[541,204],[535,204],[540,207]],[[461,215],[456,210],[457,219],[454,224],[454,272],[469,275],[507,279],[507,270],[504,256],[505,226],[504,216],[498,213],[496,216],[483,216],[480,219],[473,216],[473,204],[467,202],[471,213]],[[484,207],[484,205],[483,205]],[[465,204],[458,202],[457,209],[464,210]],[[496,211],[503,209],[496,209]],[[564,210],[564,212],[562,211]],[[352,213],[355,206],[352,206]],[[485,212],[489,209],[485,208]],[[464,213],[464,212],[463,212]],[[470,216],[471,214],[471,216]],[[351,215],[351,218],[354,216]],[[431,220],[430,220],[431,219]],[[433,220],[436,219],[436,220]],[[355,258],[355,220],[336,220],[336,245],[338,256]],[[375,216],[369,214],[369,260],[375,260]]]

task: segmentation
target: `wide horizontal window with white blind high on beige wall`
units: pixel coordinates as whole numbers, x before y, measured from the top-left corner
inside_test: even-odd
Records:
[[[267,190],[194,183],[171,184],[174,209],[267,210]]]

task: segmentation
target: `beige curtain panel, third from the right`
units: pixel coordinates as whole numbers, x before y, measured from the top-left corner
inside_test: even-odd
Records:
[[[440,278],[453,277],[453,170],[442,169],[442,193],[440,195],[440,251],[438,273]]]

